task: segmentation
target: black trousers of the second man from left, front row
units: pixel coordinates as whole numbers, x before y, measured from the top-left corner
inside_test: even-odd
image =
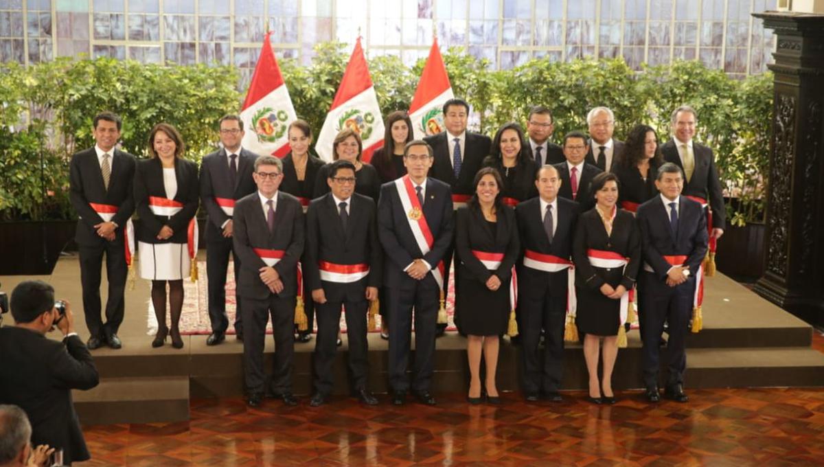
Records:
[[[367,311],[369,302],[335,301],[316,304],[317,339],[315,341],[315,390],[322,395],[329,395],[335,381],[332,371],[338,346],[340,329],[340,307],[346,308],[346,337],[349,352],[346,362],[349,365],[349,378],[354,390],[366,388],[369,362],[367,353],[369,344],[366,339]]]

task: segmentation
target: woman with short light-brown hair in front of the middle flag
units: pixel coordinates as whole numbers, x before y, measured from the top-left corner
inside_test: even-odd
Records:
[[[363,142],[360,135],[351,128],[340,130],[338,135],[335,136],[335,141],[332,142],[332,157],[334,160],[343,159],[352,162],[355,166],[355,193],[368,196],[374,199],[377,204],[377,198],[381,194],[381,179],[378,178],[375,167],[360,160],[362,152]],[[329,164],[325,164],[317,171],[315,192],[312,194],[312,198],[318,198],[329,193],[329,184],[326,183],[326,179],[329,177],[329,166]]]

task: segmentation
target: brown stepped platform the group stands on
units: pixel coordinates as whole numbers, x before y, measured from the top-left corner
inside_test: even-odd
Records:
[[[200,252],[204,255],[204,251]],[[88,338],[82,314],[80,269],[76,255],[63,255],[54,273],[40,278],[54,285],[57,297],[70,301],[77,332]],[[104,274],[105,275],[105,274]],[[2,289],[11,292],[21,276],[0,277]],[[104,279],[105,283],[105,279]],[[105,291],[105,287],[103,288]],[[105,299],[105,295],[104,295]],[[190,398],[237,397],[242,394],[242,344],[233,336],[215,347],[206,346],[205,335],[184,336],[185,347],[152,348],[147,334],[149,283],[138,279],[126,291],[126,315],[119,331],[123,348],[92,352],[101,372],[101,385],[75,393],[75,404],[84,424],[168,422],[189,418]],[[824,354],[811,348],[812,327],[772,305],[719,273],[705,288],[704,330],[687,340],[687,388],[824,386]],[[11,325],[7,316],[5,325]],[[59,334],[50,335],[58,339]],[[310,343],[295,344],[294,391],[311,392]],[[386,392],[386,341],[369,334],[370,386]],[[616,390],[639,388],[640,347],[638,331],[629,333],[629,347],[621,349],[613,386]],[[346,338],[335,364],[336,390],[348,392]],[[433,392],[464,392],[469,379],[466,340],[456,333],[438,339]],[[266,367],[271,367],[274,342],[266,342]],[[519,349],[504,341],[499,360],[499,389],[517,391]],[[2,364],[2,356],[0,356]],[[564,389],[587,387],[580,345],[566,348]]]

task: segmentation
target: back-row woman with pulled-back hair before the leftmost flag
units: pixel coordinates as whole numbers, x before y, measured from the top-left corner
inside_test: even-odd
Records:
[[[317,171],[321,170],[324,162],[309,152],[311,146],[311,127],[301,119],[289,125],[289,148],[291,151],[283,157],[283,181],[280,189],[283,193],[291,194],[300,200],[307,208],[312,195],[315,194]]]

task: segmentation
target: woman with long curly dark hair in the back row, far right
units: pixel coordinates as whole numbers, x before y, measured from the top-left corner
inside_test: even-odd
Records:
[[[658,149],[658,135],[648,125],[635,125],[625,144],[624,153],[613,164],[612,171],[620,182],[620,207],[635,212],[640,204],[658,196],[655,175],[663,164],[663,157]]]

